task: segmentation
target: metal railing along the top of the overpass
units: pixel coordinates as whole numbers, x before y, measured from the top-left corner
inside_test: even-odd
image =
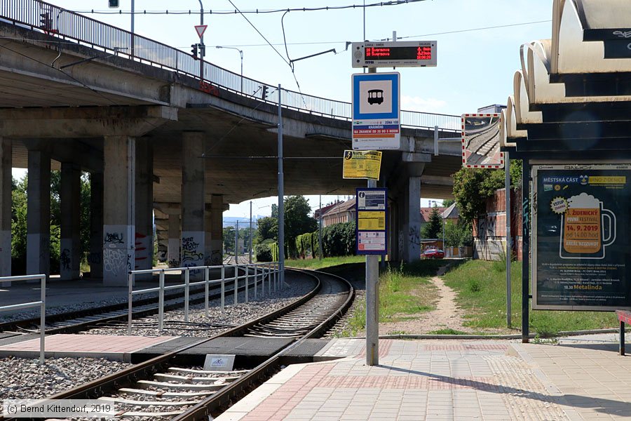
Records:
[[[132,34],[87,16],[67,11],[39,0],[0,0],[0,20],[23,25],[60,39],[102,49],[106,53],[169,69],[179,74],[199,78],[200,63],[192,55],[161,42]],[[224,88],[247,97],[278,104],[278,89],[269,83],[250,79],[204,62],[204,90]],[[351,120],[351,104],[306,95],[283,89],[283,106],[300,112]],[[431,128],[460,131],[461,117],[448,114],[402,111],[401,124],[411,128]]]

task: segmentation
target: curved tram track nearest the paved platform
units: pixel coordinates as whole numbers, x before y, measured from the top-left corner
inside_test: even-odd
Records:
[[[293,270],[293,269],[287,269]],[[295,271],[315,279],[302,298],[211,338],[102,377],[48,399],[100,399],[116,403],[118,417],[151,420],[208,420],[278,372],[286,354],[308,338],[319,338],[351,306],[355,291],[339,276]],[[201,370],[200,356],[184,351],[220,337],[289,338],[289,345],[252,369]],[[193,363],[191,358],[196,358]],[[183,367],[188,365],[189,367]],[[140,408],[140,410],[139,410]],[[17,420],[17,419],[16,419]]]

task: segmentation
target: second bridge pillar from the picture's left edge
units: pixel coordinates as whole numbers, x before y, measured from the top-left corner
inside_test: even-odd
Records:
[[[50,153],[29,150],[27,274],[50,275]]]

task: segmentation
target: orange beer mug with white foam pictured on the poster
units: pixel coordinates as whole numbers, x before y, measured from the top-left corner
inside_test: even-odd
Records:
[[[591,194],[571,196],[559,241],[562,259],[603,259],[605,247],[616,241],[616,215]]]

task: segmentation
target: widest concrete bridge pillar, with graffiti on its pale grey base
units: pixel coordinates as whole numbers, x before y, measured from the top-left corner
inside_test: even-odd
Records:
[[[136,140],[105,136],[103,284],[126,286],[134,262]]]

